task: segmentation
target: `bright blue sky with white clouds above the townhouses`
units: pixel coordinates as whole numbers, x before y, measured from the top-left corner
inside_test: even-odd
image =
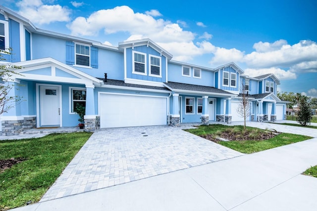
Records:
[[[2,0],[40,29],[117,46],[150,38],[173,59],[246,75],[317,97],[316,0]]]

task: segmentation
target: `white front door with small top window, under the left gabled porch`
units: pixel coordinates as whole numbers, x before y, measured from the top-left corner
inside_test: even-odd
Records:
[[[60,125],[59,86],[40,86],[41,126]]]

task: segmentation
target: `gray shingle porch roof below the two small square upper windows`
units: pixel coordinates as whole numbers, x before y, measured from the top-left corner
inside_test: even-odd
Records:
[[[164,84],[166,84],[172,90],[178,89],[178,90],[201,91],[201,92],[211,92],[211,93],[217,93],[217,94],[234,95],[228,91],[224,91],[222,89],[218,89],[218,88],[211,87],[211,86],[182,84],[182,83],[176,83],[176,82],[168,82],[168,83],[164,83]]]

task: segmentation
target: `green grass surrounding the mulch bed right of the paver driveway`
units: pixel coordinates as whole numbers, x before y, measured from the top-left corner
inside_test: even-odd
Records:
[[[243,126],[209,125],[199,126],[197,129],[187,129],[186,131],[191,132],[195,135],[217,134],[217,136],[221,136],[221,132],[228,130],[228,128],[235,131],[242,131],[242,127]],[[247,127],[247,130],[254,134],[254,140],[219,141],[218,143],[233,150],[249,154],[312,138],[305,135],[280,133],[273,138],[267,140],[259,140],[259,135],[257,134],[265,132],[265,130],[255,127]]]

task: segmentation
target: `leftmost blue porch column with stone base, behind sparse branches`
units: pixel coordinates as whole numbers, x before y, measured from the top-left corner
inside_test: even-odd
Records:
[[[21,116],[21,100],[14,101],[17,97],[22,97],[19,93],[19,80],[14,82],[4,82],[5,87],[7,86],[6,98],[12,97],[12,101],[4,105],[6,112],[2,113],[1,124],[2,124],[2,135],[19,135],[23,131],[24,118]],[[4,88],[6,89],[6,88]],[[17,97],[16,97],[17,96]],[[8,108],[10,106],[10,108]]]

